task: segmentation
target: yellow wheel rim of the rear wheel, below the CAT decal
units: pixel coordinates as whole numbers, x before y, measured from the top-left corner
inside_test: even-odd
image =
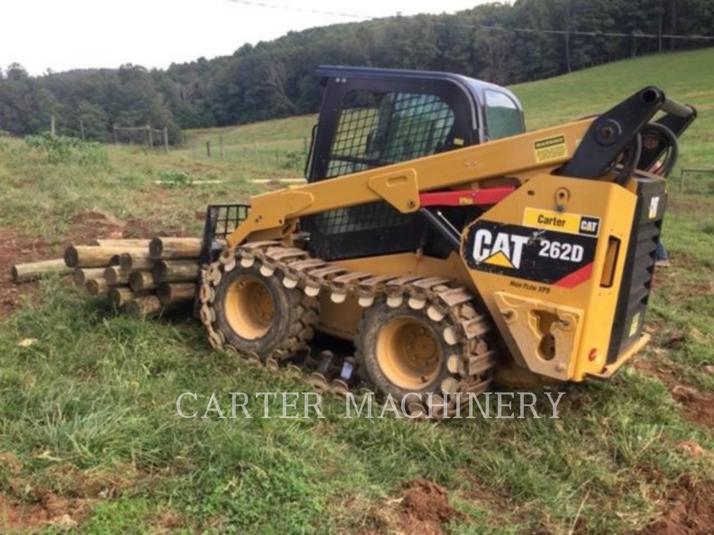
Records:
[[[396,386],[418,390],[438,375],[441,348],[425,322],[413,317],[390,320],[377,337],[377,362]]]

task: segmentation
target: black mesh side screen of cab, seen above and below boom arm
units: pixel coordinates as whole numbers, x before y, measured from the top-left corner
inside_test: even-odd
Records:
[[[428,156],[446,145],[454,113],[436,95],[350,91],[342,103],[325,178]],[[304,218],[310,248],[325,260],[381,255],[421,246],[425,227],[385,202]]]

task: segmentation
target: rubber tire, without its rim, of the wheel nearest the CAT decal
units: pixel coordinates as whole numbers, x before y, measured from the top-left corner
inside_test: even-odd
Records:
[[[377,361],[377,340],[382,327],[387,325],[390,320],[405,316],[414,317],[425,323],[435,339],[438,340],[439,350],[441,350],[440,370],[430,382],[418,390],[408,390],[393,384],[382,372]],[[462,351],[461,344],[448,345],[446,340],[443,339],[442,331],[447,325],[449,324],[446,319],[441,322],[431,320],[426,315],[426,307],[422,310],[413,310],[405,302],[400,307],[392,308],[387,305],[384,298],[376,300],[374,305],[363,313],[355,336],[356,360],[363,379],[370,383],[377,392],[385,395],[391,394],[394,399],[402,399],[408,392],[420,394],[433,392],[441,395],[441,382],[444,379],[448,377],[458,379],[458,376],[449,372],[448,367],[446,367],[448,356]]]

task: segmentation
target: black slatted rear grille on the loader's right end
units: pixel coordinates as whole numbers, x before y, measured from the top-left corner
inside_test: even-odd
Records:
[[[637,180],[638,203],[610,335],[608,364],[618,360],[642,333],[667,201],[663,180]]]

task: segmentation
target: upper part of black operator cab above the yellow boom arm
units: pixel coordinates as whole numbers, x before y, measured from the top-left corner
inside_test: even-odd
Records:
[[[315,182],[526,131],[511,91],[458,74],[317,69],[325,88],[306,178]]]

